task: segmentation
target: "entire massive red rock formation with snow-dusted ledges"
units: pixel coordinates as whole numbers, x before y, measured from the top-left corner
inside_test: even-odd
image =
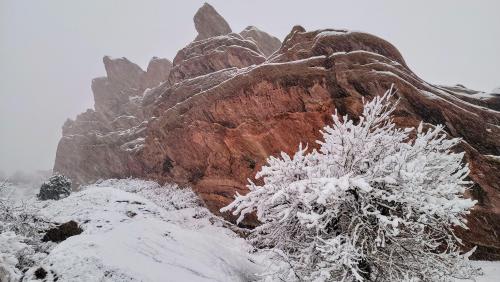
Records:
[[[474,183],[467,196],[478,205],[459,232],[479,246],[477,258],[500,259],[498,95],[427,83],[392,44],[362,32],[295,26],[271,51],[258,36],[231,33],[212,10],[198,11],[199,35],[170,72],[160,71],[165,64],[148,76],[149,67],[105,58],[107,77],[93,82],[96,110],[63,126],[55,171],[79,184],[135,176],[190,185],[218,213],[267,157],[299,143],[314,148],[335,110],[356,117],[363,98],[394,85],[399,126],[443,124],[463,138],[457,150]]]

